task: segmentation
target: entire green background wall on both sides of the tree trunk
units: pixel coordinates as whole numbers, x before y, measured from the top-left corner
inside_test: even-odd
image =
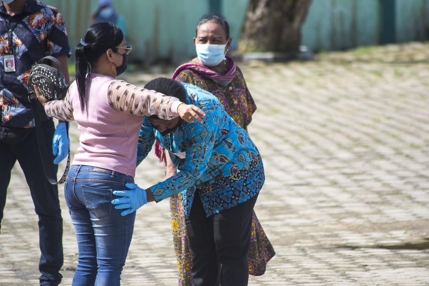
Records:
[[[221,1],[216,3],[216,1]],[[98,0],[45,0],[63,14],[70,45],[91,25]],[[127,22],[127,42],[133,58],[152,62],[188,60],[195,56],[192,38],[199,18],[209,7],[220,7],[239,37],[249,0],[113,0]],[[382,22],[383,5],[395,5],[394,26]],[[382,33],[394,33],[396,42],[429,39],[429,0],[313,0],[302,26],[302,45],[315,51],[378,45]],[[392,20],[389,17],[384,17]],[[384,25],[383,25],[384,24]],[[393,31],[393,32],[392,32]]]

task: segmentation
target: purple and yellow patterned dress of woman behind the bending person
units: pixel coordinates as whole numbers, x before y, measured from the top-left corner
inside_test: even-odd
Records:
[[[196,85],[214,94],[222,102],[225,110],[235,122],[247,130],[247,126],[252,120],[252,114],[256,110],[256,105],[247,88],[242,71],[235,66],[232,59],[228,57],[228,60],[228,65],[230,67],[233,65],[236,72],[235,77],[227,86],[218,84],[213,79],[202,75],[202,72],[192,68],[192,66],[198,66],[198,69],[207,69],[207,67],[195,61],[190,61],[181,66],[184,69],[179,67],[173,78],[177,81]],[[170,210],[171,228],[179,271],[179,286],[193,285],[191,277],[193,253],[189,247],[180,194],[170,198]],[[263,275],[266,271],[266,264],[274,255],[274,248],[263,231],[255,212],[253,212],[249,248],[249,274],[254,276]]]

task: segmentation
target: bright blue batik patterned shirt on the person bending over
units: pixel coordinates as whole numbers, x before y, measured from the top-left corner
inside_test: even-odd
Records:
[[[204,124],[182,120],[174,132],[161,136],[146,117],[139,135],[137,165],[157,140],[169,151],[180,172],[150,188],[155,201],[181,192],[187,217],[194,193],[199,190],[202,205],[210,216],[259,193],[265,181],[263,163],[248,133],[234,122],[214,95],[192,84],[181,84],[187,92],[186,103],[206,113]]]

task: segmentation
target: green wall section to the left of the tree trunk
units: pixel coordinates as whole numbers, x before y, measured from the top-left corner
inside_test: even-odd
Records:
[[[239,36],[249,0],[222,0],[221,13],[230,24],[233,38]],[[57,7],[66,21],[72,49],[91,25],[98,0],[45,0]],[[193,45],[196,24],[209,12],[209,0],[113,0],[127,24],[127,43],[133,58],[148,62],[159,59],[189,60],[196,56]],[[211,0],[211,2],[213,2]]]

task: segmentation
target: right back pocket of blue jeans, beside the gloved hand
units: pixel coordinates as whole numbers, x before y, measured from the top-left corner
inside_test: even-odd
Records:
[[[82,185],[86,208],[98,219],[112,212],[112,189],[97,189]]]

